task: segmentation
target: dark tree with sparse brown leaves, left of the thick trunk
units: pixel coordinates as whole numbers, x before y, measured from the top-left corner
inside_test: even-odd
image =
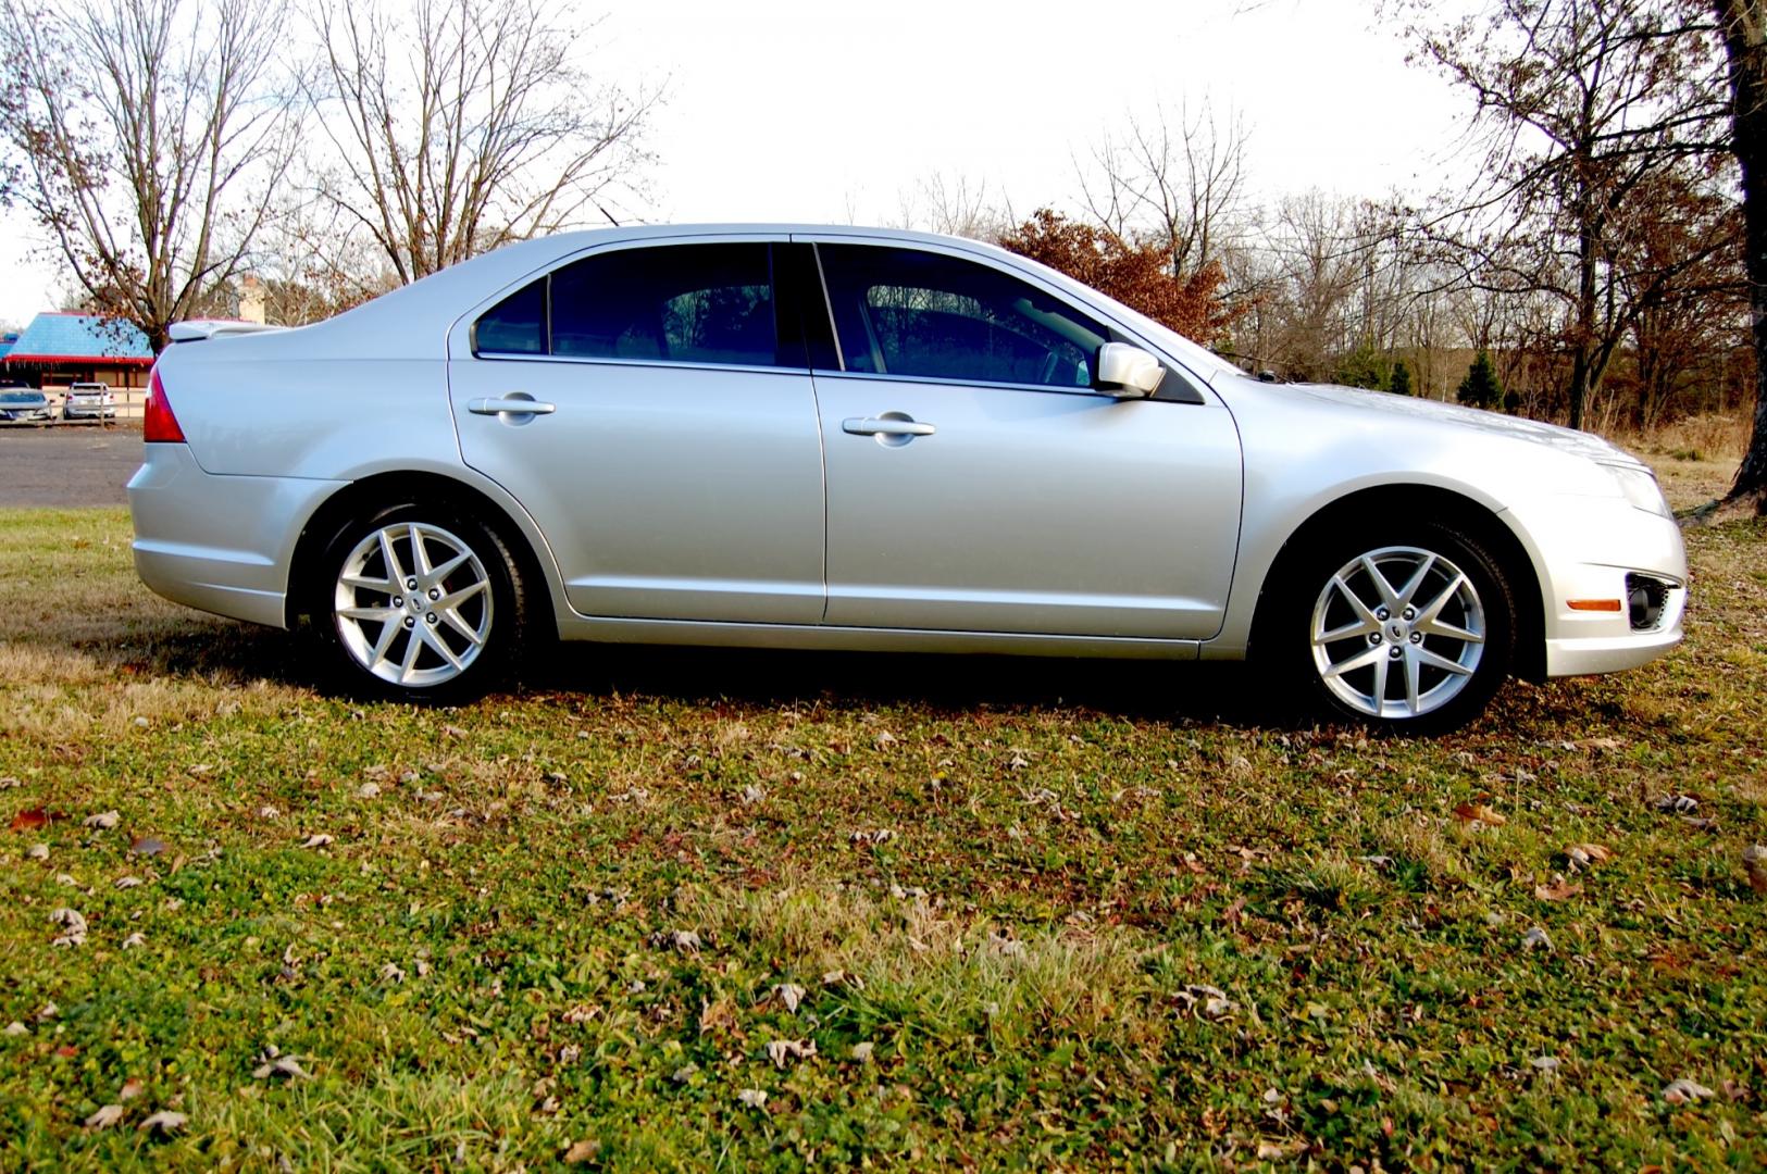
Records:
[[[1491,0],[1412,30],[1484,129],[1484,189],[1430,228],[1470,281],[1562,302],[1573,427],[1633,325],[1615,268],[1624,210],[1710,150],[1718,56],[1698,12],[1693,0]]]

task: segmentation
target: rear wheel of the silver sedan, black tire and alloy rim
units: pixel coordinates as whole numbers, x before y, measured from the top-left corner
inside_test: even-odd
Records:
[[[394,586],[389,549],[405,584],[398,591],[378,586]],[[495,530],[449,503],[406,501],[350,519],[306,583],[327,678],[352,696],[472,701],[509,680],[527,637],[519,563]]]

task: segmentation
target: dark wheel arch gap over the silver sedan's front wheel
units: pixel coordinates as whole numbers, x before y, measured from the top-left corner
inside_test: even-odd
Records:
[[[1376,501],[1384,516],[1394,517],[1394,493],[1405,494],[1407,517],[1460,526],[1502,563],[1502,570],[1509,576],[1516,598],[1516,660],[1513,673],[1525,680],[1544,680],[1546,602],[1541,590],[1539,568],[1534,565],[1527,546],[1490,507],[1452,489],[1426,484],[1368,485],[1336,498],[1302,521],[1283,542],[1276,558],[1270,560],[1270,567],[1258,584],[1258,606],[1253,613],[1251,639],[1248,641],[1246,655],[1256,655],[1260,637],[1272,618],[1270,602],[1279,595],[1272,586],[1295,568],[1295,563],[1306,556],[1315,538],[1352,519],[1361,524],[1369,505]]]

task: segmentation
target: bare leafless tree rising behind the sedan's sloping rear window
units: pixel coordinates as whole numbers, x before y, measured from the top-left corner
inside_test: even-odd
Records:
[[[597,83],[558,0],[318,0],[309,99],[337,152],[320,198],[398,274],[613,219],[657,94]]]

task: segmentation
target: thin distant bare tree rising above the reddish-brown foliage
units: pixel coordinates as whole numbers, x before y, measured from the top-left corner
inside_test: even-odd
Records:
[[[1180,106],[1152,122],[1131,117],[1122,136],[1099,141],[1092,168],[1080,168],[1081,203],[1124,242],[1154,237],[1182,281],[1244,228],[1246,139],[1244,120],[1217,118],[1209,102],[1194,115]]]

